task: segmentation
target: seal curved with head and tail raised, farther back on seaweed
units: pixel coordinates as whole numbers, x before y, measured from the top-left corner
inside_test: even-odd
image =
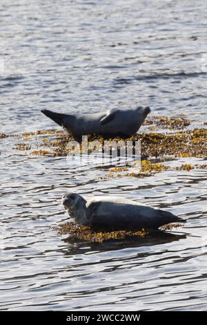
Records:
[[[141,127],[150,113],[149,107],[139,106],[136,109],[112,109],[102,113],[71,113],[61,114],[41,110],[75,138],[97,134],[106,138],[130,138]]]

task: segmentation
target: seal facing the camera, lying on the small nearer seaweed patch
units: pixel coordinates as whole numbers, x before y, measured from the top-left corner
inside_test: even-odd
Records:
[[[83,198],[76,193],[66,193],[62,204],[80,225],[157,229],[167,223],[186,222],[171,212],[115,196]]]

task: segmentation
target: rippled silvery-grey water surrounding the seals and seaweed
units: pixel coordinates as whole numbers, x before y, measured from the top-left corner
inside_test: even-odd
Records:
[[[7,0],[0,17],[1,133],[55,127],[43,108],[141,103],[206,119],[204,0]],[[16,142],[0,140],[1,310],[206,310],[206,171],[111,179]],[[188,223],[144,239],[67,241],[52,230],[67,220],[67,190],[132,198]]]

